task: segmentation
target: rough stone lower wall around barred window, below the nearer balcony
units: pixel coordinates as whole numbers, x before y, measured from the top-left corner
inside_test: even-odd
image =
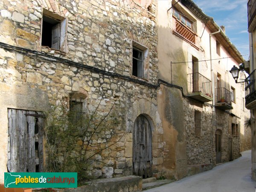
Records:
[[[188,174],[212,168],[212,108],[198,102],[184,102]],[[201,112],[201,137],[195,135],[195,110]]]

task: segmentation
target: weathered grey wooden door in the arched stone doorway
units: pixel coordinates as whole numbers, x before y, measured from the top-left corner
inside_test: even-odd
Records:
[[[145,116],[140,115],[133,129],[133,174],[148,178],[152,176],[152,134]]]

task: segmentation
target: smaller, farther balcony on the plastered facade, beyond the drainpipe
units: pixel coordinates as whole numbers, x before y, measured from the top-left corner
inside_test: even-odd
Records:
[[[224,87],[216,88],[217,91],[217,102],[215,103],[215,108],[221,110],[230,110],[232,107],[232,93]]]

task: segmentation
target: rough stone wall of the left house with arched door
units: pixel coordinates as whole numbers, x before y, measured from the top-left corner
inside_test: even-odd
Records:
[[[138,79],[131,76],[132,41],[136,41],[148,48],[144,76],[140,80],[156,84],[156,3],[152,1],[143,5],[132,0],[72,3],[65,0],[4,0],[0,3],[0,41]],[[150,9],[147,9],[149,5]],[[66,47],[62,50],[41,46],[44,9],[68,20],[64,45]],[[87,95],[88,111],[95,110],[103,97],[99,108],[106,112],[115,98],[118,98],[117,105],[124,108],[126,122],[123,127],[118,128],[119,135],[125,132],[125,136],[116,145],[96,157],[99,163],[88,174],[95,177],[132,174],[132,127],[137,116],[144,114],[153,129],[153,174],[160,176],[163,163],[163,130],[157,112],[155,88],[91,72],[83,67],[70,66],[60,61],[41,61],[4,49],[0,49],[0,52],[0,92],[3,93],[1,100],[3,101],[6,95],[9,96],[0,105],[1,111],[4,111],[0,129],[1,133],[3,132],[0,148],[4,154],[0,161],[1,165],[6,165],[7,161],[7,108],[47,111],[49,104],[56,102],[68,106],[69,93],[81,92]],[[17,91],[26,99],[20,101],[16,95]],[[40,103],[44,105],[40,106]],[[108,133],[95,136],[92,145],[104,143],[107,136]],[[116,140],[116,137],[112,140]],[[0,170],[6,172],[6,166],[1,166]],[[0,181],[3,182],[3,177],[0,177]]]

